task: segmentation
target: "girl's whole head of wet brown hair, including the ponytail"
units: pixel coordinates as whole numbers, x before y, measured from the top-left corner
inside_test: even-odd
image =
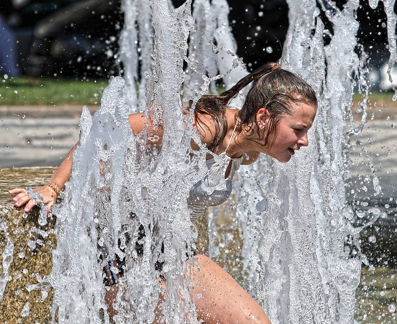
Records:
[[[243,107],[238,112],[236,120],[245,131],[253,134],[254,124],[252,116],[260,108],[266,108],[269,112],[267,131],[258,130],[258,139],[265,137],[265,145],[276,134],[277,124],[282,115],[292,114],[291,103],[308,103],[317,108],[317,97],[312,87],[298,75],[282,69],[277,63],[266,63],[254,70],[232,88],[219,95],[202,96],[196,104],[194,115],[200,127],[199,115],[209,115],[214,121],[215,136],[208,145],[208,149],[217,147],[227,133],[226,106],[239,92],[248,86],[252,87],[247,94]],[[257,124],[257,120],[254,119]],[[257,124],[258,126],[258,124]]]

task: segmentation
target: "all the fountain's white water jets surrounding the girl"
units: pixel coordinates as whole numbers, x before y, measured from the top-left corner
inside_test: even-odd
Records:
[[[195,0],[193,14],[191,0],[177,8],[167,0],[143,2],[123,4],[119,58],[125,80],[110,80],[94,116],[82,111],[72,177],[63,202],[52,211],[56,224],[54,218],[35,216],[44,228],[36,232],[51,237],[49,246],[56,233],[57,246],[51,273],[36,275],[37,283],[26,289],[40,292],[37,302],[52,298],[52,323],[109,323],[102,269],[114,255],[126,262],[116,323],[152,323],[156,307],[164,323],[198,323],[192,280],[185,276],[186,255],[192,255],[198,233],[186,199],[207,172],[207,149],[191,126],[193,109],[184,115],[182,107],[190,99],[194,107],[208,91],[216,93],[216,80],[229,88],[247,71],[236,54],[226,0]],[[386,215],[381,208],[359,208],[363,201],[353,195],[352,203],[351,191],[346,192],[357,166],[349,155],[361,150],[373,187],[369,200],[382,193],[373,157],[365,146],[353,144],[365,129],[370,86],[369,58],[357,45],[359,1],[343,6],[327,0],[319,6],[313,0],[287,2],[290,25],[281,64],[307,80],[319,101],[310,145],[286,164],[263,156],[236,174],[232,203],[207,213],[208,254],[222,262],[230,258],[225,246],[241,249],[232,272],[273,324],[354,323],[361,265],[374,267],[361,252],[360,233]],[[392,78],[396,15],[393,1],[383,3]],[[375,8],[378,1],[370,5]],[[325,30],[322,11],[332,31]],[[331,38],[326,46],[324,35]],[[361,96],[356,111],[354,92]],[[244,96],[242,91],[230,105],[240,107]],[[139,110],[149,122],[134,135],[128,114]],[[161,149],[159,128],[164,130]],[[199,151],[191,151],[191,140]],[[216,226],[225,221],[226,228]],[[140,224],[146,236],[138,242],[143,256],[137,258],[132,247]],[[13,279],[11,227],[0,219],[0,298]],[[166,291],[157,280],[158,260],[164,262]],[[18,316],[28,318],[32,304],[29,299]]]

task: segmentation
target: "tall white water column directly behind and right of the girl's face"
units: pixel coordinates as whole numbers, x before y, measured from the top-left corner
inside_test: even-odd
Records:
[[[311,36],[319,14],[315,3],[288,4],[291,24],[283,59],[288,69],[312,85],[319,107],[308,134],[309,147],[285,165],[274,164],[259,243],[257,297],[272,323],[352,323],[361,260],[349,257],[346,248],[348,238],[359,245],[359,231],[350,223],[352,212],[344,191],[350,171],[342,148],[348,140],[344,109],[352,105],[354,78],[364,74],[354,52],[358,1],[327,12],[334,30],[327,47],[319,18]],[[364,102],[365,96],[364,91]],[[362,124],[365,114],[363,109]]]

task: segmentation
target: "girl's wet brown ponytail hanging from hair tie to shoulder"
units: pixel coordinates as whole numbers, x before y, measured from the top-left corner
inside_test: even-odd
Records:
[[[209,115],[215,125],[215,136],[212,142],[208,145],[209,150],[217,147],[226,136],[226,107],[230,100],[236,98],[239,92],[251,82],[254,82],[255,84],[257,80],[266,74],[280,69],[281,67],[277,63],[267,63],[242,78],[229,90],[226,90],[219,95],[205,95],[199,99],[194,111],[198,125],[202,128],[199,115]],[[206,128],[208,129],[208,127]]]

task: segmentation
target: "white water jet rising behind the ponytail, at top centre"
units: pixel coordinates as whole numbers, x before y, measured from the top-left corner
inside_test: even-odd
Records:
[[[237,44],[229,26],[229,11],[226,0],[213,0],[211,3],[208,0],[195,1],[195,29],[190,34],[189,56],[186,59],[190,69],[185,71],[185,99],[197,96],[206,77],[211,79],[211,92],[216,94],[215,80],[222,78],[225,89],[229,89],[247,75],[245,64],[235,54]],[[242,91],[229,105],[242,107],[248,90]]]

